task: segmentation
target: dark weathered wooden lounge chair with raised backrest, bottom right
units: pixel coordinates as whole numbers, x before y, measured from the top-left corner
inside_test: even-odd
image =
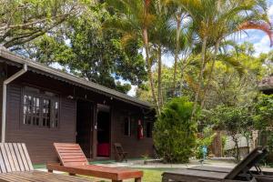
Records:
[[[273,173],[262,172],[258,163],[268,154],[266,148],[255,148],[233,169],[224,167],[192,167],[180,171],[166,172],[162,181],[183,182],[273,182]],[[256,170],[251,170],[255,167]]]

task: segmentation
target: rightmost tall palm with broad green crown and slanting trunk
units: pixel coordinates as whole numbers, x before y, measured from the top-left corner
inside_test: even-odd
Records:
[[[192,19],[192,28],[201,44],[201,70],[195,95],[195,105],[199,101],[201,87],[204,85],[204,72],[207,66],[207,49],[214,45],[216,61],[219,44],[227,35],[238,32],[247,22],[266,20],[262,0],[178,0]],[[212,64],[212,70],[214,63]],[[209,76],[211,77],[211,76]],[[209,78],[210,79],[210,78]],[[195,108],[196,108],[195,106]],[[194,109],[195,112],[196,109]],[[194,114],[193,112],[193,114]]]

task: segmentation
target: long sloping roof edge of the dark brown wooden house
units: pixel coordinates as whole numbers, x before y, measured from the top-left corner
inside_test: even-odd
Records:
[[[40,74],[45,74],[47,76],[53,76],[56,79],[60,79],[66,82],[69,82],[70,84],[76,85],[76,86],[83,86],[88,89],[91,89],[93,91],[99,92],[101,94],[104,94],[106,96],[112,96],[116,99],[135,104],[137,106],[145,106],[145,107],[151,107],[151,104],[145,101],[141,101],[133,96],[127,96],[126,94],[123,94],[121,92],[118,92],[116,90],[107,88],[106,86],[98,85],[94,82],[87,81],[84,78],[80,78],[77,76],[73,76],[71,74],[67,74],[65,72],[62,72],[60,70],[57,70],[53,67],[45,66],[43,64],[37,63],[31,59],[27,59],[23,56],[15,55],[14,53],[10,52],[9,50],[5,49],[5,47],[0,46],[0,56],[14,62],[15,64],[26,64],[28,67],[31,68],[31,71],[38,72]]]

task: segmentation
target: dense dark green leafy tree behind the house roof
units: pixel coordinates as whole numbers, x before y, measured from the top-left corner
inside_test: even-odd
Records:
[[[116,30],[102,27],[112,18],[115,16],[104,5],[88,5],[82,15],[25,45],[25,56],[46,65],[58,63],[76,76],[127,93],[131,84],[138,86],[147,80],[147,72],[138,52],[140,45],[131,42],[124,47]],[[120,80],[130,84],[121,84]]]

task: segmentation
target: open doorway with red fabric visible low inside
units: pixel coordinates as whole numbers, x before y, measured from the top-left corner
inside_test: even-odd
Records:
[[[98,107],[97,112],[97,157],[110,157],[110,112]]]

